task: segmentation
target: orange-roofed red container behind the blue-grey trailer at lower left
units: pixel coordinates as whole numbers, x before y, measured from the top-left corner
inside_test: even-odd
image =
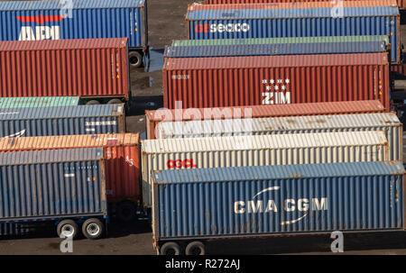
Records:
[[[104,148],[109,202],[141,201],[139,133],[0,138],[0,152]]]

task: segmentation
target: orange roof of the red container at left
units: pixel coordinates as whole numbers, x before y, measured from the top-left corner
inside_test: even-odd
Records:
[[[108,133],[0,138],[0,151],[138,146],[139,136],[139,133]]]

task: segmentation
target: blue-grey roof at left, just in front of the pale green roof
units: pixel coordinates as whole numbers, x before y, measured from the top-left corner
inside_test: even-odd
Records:
[[[124,105],[77,105],[51,107],[0,108],[0,120],[115,116],[124,113]]]

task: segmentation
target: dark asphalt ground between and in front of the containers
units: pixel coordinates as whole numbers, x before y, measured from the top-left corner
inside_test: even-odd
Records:
[[[133,106],[126,118],[128,132],[144,132],[143,113],[157,109],[162,102],[161,52],[174,39],[187,38],[185,0],[148,0],[149,40],[152,50],[151,71],[143,68],[131,71]],[[401,30],[406,38],[406,28]],[[209,254],[332,254],[333,240],[328,234],[317,236],[290,236],[271,239],[239,239],[208,242]],[[154,255],[152,231],[147,222],[118,223],[112,220],[108,237],[97,241],[78,239],[72,253],[60,252],[61,239],[53,227],[42,228],[30,235],[0,239],[0,255],[23,254],[146,254]],[[374,232],[345,234],[344,252],[338,255],[406,254],[405,232]],[[335,253],[337,255],[337,253]]]

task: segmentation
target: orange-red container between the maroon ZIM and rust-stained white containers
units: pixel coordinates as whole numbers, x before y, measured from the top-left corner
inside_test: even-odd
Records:
[[[264,118],[277,116],[319,115],[319,114],[365,114],[383,113],[379,101],[349,101],[294,105],[260,105],[227,108],[189,108],[186,110],[145,111],[147,140],[156,138],[156,127],[163,122],[219,120],[239,118]]]

